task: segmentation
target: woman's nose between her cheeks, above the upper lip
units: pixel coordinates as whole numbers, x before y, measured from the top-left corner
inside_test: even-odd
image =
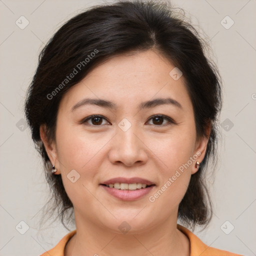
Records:
[[[147,147],[143,143],[142,135],[134,126],[131,125],[126,131],[117,127],[108,153],[109,160],[113,164],[123,163],[126,166],[138,166],[147,161]]]

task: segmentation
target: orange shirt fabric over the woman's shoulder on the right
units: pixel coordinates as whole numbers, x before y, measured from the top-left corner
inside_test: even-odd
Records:
[[[184,233],[190,241],[190,256],[242,256],[240,254],[235,254],[206,245],[184,226],[177,224],[177,229]]]

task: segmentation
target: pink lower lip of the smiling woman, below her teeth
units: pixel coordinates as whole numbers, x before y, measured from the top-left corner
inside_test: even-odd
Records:
[[[132,200],[136,200],[136,199],[142,197],[143,195],[149,193],[154,185],[148,186],[145,188],[136,189],[136,190],[116,189],[116,188],[108,187],[108,186],[101,185],[101,184],[100,184],[100,186],[102,186],[109,194],[111,194],[112,196],[114,196],[120,200],[132,201]]]

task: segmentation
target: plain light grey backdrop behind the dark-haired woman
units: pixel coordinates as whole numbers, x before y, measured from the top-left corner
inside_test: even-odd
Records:
[[[0,0],[0,255],[38,255],[68,232],[59,222],[37,230],[48,188],[29,128],[23,126],[23,102],[45,42],[64,21],[100,2]],[[224,85],[220,162],[215,181],[209,177],[214,215],[208,228],[194,233],[212,247],[256,255],[256,1],[172,3],[183,8],[192,23],[208,35]],[[24,29],[15,23],[21,23],[21,15],[29,21]],[[224,26],[232,21],[227,15],[234,21],[228,29]],[[25,224],[20,221],[29,226],[24,234],[20,231]],[[226,234],[231,225],[234,229]]]

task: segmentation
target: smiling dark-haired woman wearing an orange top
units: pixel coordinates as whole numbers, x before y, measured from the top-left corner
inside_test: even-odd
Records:
[[[25,103],[52,210],[76,226],[41,255],[238,255],[177,224],[211,218],[203,175],[220,108],[216,67],[167,4],[119,1],[68,20]]]

